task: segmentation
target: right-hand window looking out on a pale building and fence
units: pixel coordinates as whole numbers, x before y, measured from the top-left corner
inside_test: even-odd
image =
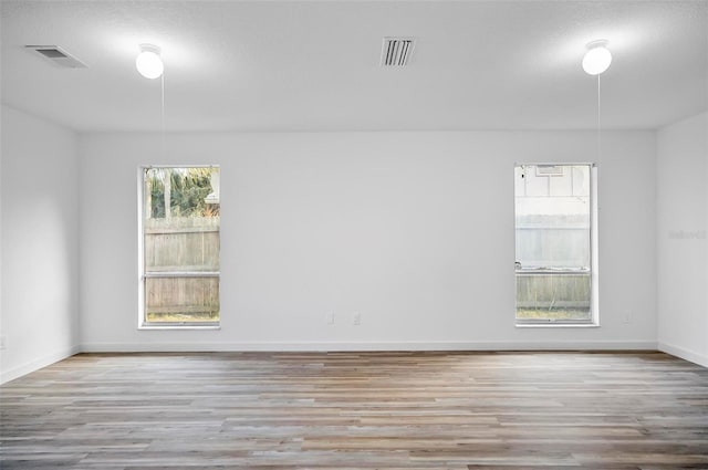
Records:
[[[592,165],[514,168],[517,323],[596,323]]]

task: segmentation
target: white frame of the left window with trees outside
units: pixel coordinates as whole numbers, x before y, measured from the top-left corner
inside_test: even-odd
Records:
[[[219,165],[140,165],[137,168],[137,265],[138,265],[138,316],[137,328],[138,330],[220,330],[221,328],[221,314],[219,313],[219,320],[217,322],[160,322],[149,323],[145,320],[145,284],[148,278],[199,278],[199,276],[216,276],[221,278],[221,271],[215,272],[160,272],[160,273],[146,273],[145,270],[145,171],[150,168],[218,168]],[[220,293],[219,293],[220,294]],[[220,303],[220,302],[219,302]]]

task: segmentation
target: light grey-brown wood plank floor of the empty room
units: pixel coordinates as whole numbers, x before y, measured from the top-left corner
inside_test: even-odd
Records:
[[[0,387],[9,469],[708,469],[660,353],[82,354]]]

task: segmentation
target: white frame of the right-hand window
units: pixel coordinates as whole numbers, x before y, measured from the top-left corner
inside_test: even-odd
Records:
[[[514,169],[522,166],[581,166],[590,167],[590,320],[551,320],[551,318],[517,318],[516,303],[517,290],[514,288],[514,321],[517,327],[597,327],[600,326],[600,263],[598,263],[598,205],[597,205],[597,165],[586,161],[563,161],[563,163],[516,163]],[[516,216],[516,184],[514,184],[514,216]],[[516,252],[516,230],[514,219],[514,252]],[[516,270],[514,270],[516,271]],[[514,284],[517,281],[514,272]]]

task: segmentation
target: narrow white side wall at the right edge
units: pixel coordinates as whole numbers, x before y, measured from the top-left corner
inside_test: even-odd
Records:
[[[708,113],[657,133],[659,348],[708,367]]]

